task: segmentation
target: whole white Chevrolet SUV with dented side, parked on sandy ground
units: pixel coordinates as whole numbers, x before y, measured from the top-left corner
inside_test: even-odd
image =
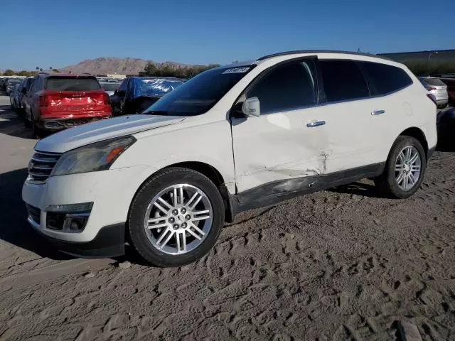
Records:
[[[158,266],[213,247],[238,212],[374,178],[417,191],[437,143],[434,97],[400,63],[294,51],[193,77],[144,114],[77,126],[35,146],[22,197],[58,249]]]

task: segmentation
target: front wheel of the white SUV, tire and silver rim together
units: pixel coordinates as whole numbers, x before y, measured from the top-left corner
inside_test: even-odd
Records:
[[[167,168],[137,193],[129,213],[134,249],[156,266],[183,266],[213,247],[224,222],[223,199],[205,175]]]

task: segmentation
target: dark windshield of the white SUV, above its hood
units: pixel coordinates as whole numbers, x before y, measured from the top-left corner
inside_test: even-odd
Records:
[[[207,112],[252,66],[217,67],[200,73],[159,99],[144,114],[195,116]]]

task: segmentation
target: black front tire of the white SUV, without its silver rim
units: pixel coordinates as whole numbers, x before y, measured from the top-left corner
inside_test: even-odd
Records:
[[[186,183],[196,186],[207,195],[213,210],[210,231],[202,244],[185,254],[166,254],[154,247],[144,230],[144,217],[151,199],[168,186]],[[129,210],[128,231],[132,246],[146,261],[155,266],[183,266],[197,261],[210,251],[218,240],[224,224],[223,198],[215,184],[205,175],[188,168],[166,168],[153,175],[141,186]]]

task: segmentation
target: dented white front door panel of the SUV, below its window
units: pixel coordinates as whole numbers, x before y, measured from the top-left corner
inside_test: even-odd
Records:
[[[326,174],[333,149],[324,126],[306,126],[315,119],[319,107],[232,119],[237,191]]]

